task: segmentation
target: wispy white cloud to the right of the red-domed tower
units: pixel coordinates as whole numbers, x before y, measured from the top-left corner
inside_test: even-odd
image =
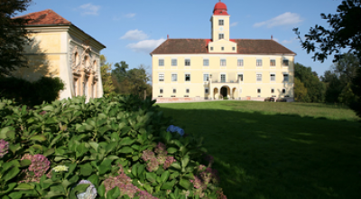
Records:
[[[255,23],[254,27],[266,26],[267,28],[272,28],[274,26],[282,26],[282,25],[295,25],[301,23],[303,20],[301,19],[300,14],[295,13],[284,13],[280,14],[270,20]]]

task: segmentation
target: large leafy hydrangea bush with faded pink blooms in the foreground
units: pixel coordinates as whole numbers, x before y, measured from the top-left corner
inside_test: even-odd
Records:
[[[153,104],[0,100],[0,197],[226,199],[202,138],[167,131],[171,118]]]

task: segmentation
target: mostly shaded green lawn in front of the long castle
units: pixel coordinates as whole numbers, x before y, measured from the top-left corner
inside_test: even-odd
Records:
[[[347,107],[213,101],[159,104],[205,137],[229,199],[361,198],[361,123]]]

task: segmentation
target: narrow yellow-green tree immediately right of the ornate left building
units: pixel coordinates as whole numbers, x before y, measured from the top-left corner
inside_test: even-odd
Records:
[[[111,70],[112,63],[106,62],[106,56],[104,56],[103,54],[100,55],[100,72],[103,82],[104,95],[106,97],[116,93],[116,87],[113,84]]]

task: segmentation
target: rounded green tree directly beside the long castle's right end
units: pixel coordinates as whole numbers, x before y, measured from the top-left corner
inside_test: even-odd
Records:
[[[298,96],[298,101],[323,102],[325,100],[325,84],[319,81],[317,73],[312,71],[310,67],[303,66],[301,63],[294,64],[294,77],[300,80],[307,90],[306,94],[295,93]]]

